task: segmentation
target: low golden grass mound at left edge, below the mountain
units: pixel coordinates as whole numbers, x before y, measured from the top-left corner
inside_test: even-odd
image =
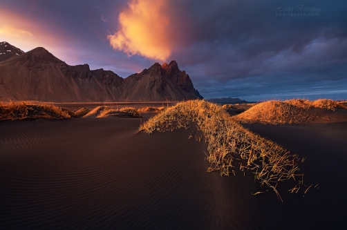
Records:
[[[67,109],[62,109],[52,104],[32,103],[32,102],[0,102],[0,120],[15,119],[66,119],[72,113]]]

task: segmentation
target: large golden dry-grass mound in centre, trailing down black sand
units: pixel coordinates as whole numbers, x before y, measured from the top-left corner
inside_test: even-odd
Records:
[[[190,122],[196,122],[208,143],[210,166],[208,172],[219,170],[221,175],[236,173],[238,169],[250,169],[260,184],[272,188],[279,199],[276,186],[283,180],[297,180],[299,171],[297,155],[278,144],[266,140],[243,128],[227,112],[216,104],[204,100],[192,100],[178,103],[176,106],[151,117],[142,124],[139,131],[173,131],[176,128],[188,128]],[[298,181],[297,186],[303,186]]]

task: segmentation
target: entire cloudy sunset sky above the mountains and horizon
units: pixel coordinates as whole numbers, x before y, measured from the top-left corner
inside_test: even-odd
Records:
[[[1,0],[0,41],[121,77],[178,62],[205,98],[347,99],[347,2]]]

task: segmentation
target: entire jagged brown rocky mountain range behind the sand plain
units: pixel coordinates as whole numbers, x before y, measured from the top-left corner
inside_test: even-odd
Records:
[[[202,98],[176,61],[125,79],[111,70],[69,66],[44,48],[0,62],[0,101],[153,102]]]

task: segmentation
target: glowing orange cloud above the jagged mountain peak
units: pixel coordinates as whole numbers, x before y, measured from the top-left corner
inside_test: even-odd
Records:
[[[166,0],[129,0],[118,17],[119,28],[108,35],[111,46],[128,55],[166,61],[171,55]]]

